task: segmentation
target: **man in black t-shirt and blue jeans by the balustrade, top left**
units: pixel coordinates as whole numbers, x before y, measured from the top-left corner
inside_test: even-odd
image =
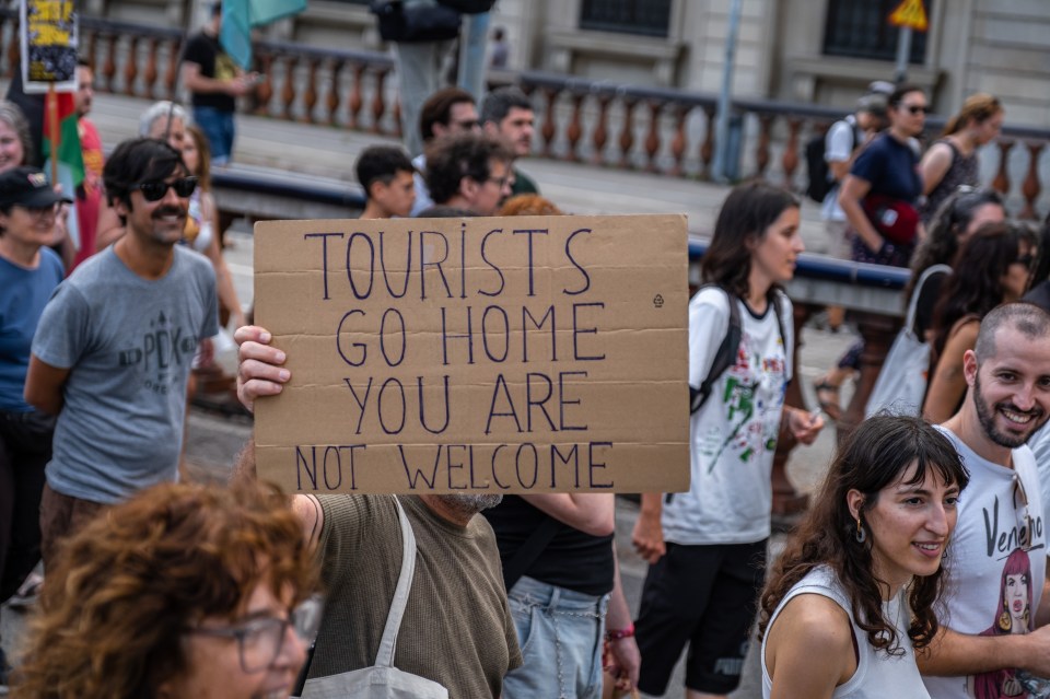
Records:
[[[189,37],[183,48],[180,77],[190,92],[194,121],[208,136],[213,165],[225,165],[233,154],[233,113],[237,97],[256,81],[256,73],[246,74],[219,44],[222,27],[222,3],[211,7],[211,19],[201,31]]]

